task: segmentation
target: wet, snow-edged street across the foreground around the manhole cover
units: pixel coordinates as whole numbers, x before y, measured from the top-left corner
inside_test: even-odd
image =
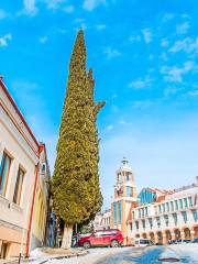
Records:
[[[198,245],[182,244],[168,246],[152,246],[144,249],[92,249],[82,257],[55,260],[47,263],[56,264],[155,264],[160,257],[178,257],[182,264],[198,264]]]

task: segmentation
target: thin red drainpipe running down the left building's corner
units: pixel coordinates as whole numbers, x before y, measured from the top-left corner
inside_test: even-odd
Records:
[[[40,166],[38,166],[38,163],[37,163],[37,165],[35,166],[35,182],[34,182],[34,189],[33,189],[33,197],[32,197],[32,206],[31,206],[31,215],[30,215],[28,237],[26,237],[25,257],[29,257],[29,251],[30,251],[30,234],[31,234],[31,228],[32,228],[32,218],[33,218],[33,210],[34,210],[36,184],[37,184],[37,178],[38,178],[38,169],[40,169]]]

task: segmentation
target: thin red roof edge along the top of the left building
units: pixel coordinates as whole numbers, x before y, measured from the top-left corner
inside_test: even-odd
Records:
[[[26,123],[26,121],[25,121],[23,114],[21,113],[21,111],[19,110],[16,103],[14,102],[13,98],[11,97],[11,95],[10,95],[10,92],[9,92],[9,90],[8,90],[8,88],[7,88],[7,86],[4,85],[4,82],[3,82],[3,80],[2,80],[2,76],[0,76],[0,86],[2,87],[3,91],[6,92],[6,95],[7,95],[8,99],[9,99],[9,101],[10,101],[11,105],[13,106],[15,112],[19,114],[19,117],[20,117],[21,120],[23,121],[23,123],[24,123],[26,130],[29,131],[31,138],[33,139],[34,143],[35,143],[35,144],[37,145],[37,147],[38,147],[40,144],[38,144],[37,140],[35,139],[35,136],[34,136],[32,130],[30,129],[30,127],[28,125],[28,123]]]

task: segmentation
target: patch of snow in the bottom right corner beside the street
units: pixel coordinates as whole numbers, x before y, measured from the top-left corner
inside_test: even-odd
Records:
[[[161,257],[178,257],[180,263],[197,263],[198,264],[198,244],[173,244],[168,245]]]

